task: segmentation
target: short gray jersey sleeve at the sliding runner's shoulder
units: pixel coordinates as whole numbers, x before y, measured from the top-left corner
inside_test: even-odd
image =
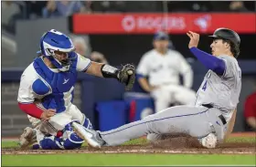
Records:
[[[231,57],[220,57],[225,62],[225,70],[222,78],[233,78],[237,72],[235,59]],[[238,74],[239,75],[239,74]]]

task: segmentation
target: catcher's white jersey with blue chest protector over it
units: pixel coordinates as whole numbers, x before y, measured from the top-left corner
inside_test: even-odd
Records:
[[[37,102],[43,109],[55,109],[57,113],[69,109],[74,96],[77,72],[85,71],[91,60],[70,52],[72,64],[69,71],[48,68],[42,57],[37,57],[23,72],[20,80],[17,101]]]

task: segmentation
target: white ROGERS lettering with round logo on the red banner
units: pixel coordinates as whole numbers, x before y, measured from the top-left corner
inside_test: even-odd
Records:
[[[186,28],[185,19],[181,16],[124,16],[123,29],[127,32],[139,30],[183,30]]]

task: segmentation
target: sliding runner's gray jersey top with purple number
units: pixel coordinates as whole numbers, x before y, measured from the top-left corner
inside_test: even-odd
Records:
[[[235,57],[219,56],[225,60],[226,70],[223,76],[208,70],[200,88],[197,90],[196,106],[211,104],[222,111],[227,121],[239,103],[241,71]]]

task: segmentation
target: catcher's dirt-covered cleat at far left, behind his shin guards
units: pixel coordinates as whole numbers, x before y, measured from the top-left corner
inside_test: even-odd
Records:
[[[19,137],[19,146],[21,149],[27,149],[28,146],[37,142],[37,131],[27,127]]]

